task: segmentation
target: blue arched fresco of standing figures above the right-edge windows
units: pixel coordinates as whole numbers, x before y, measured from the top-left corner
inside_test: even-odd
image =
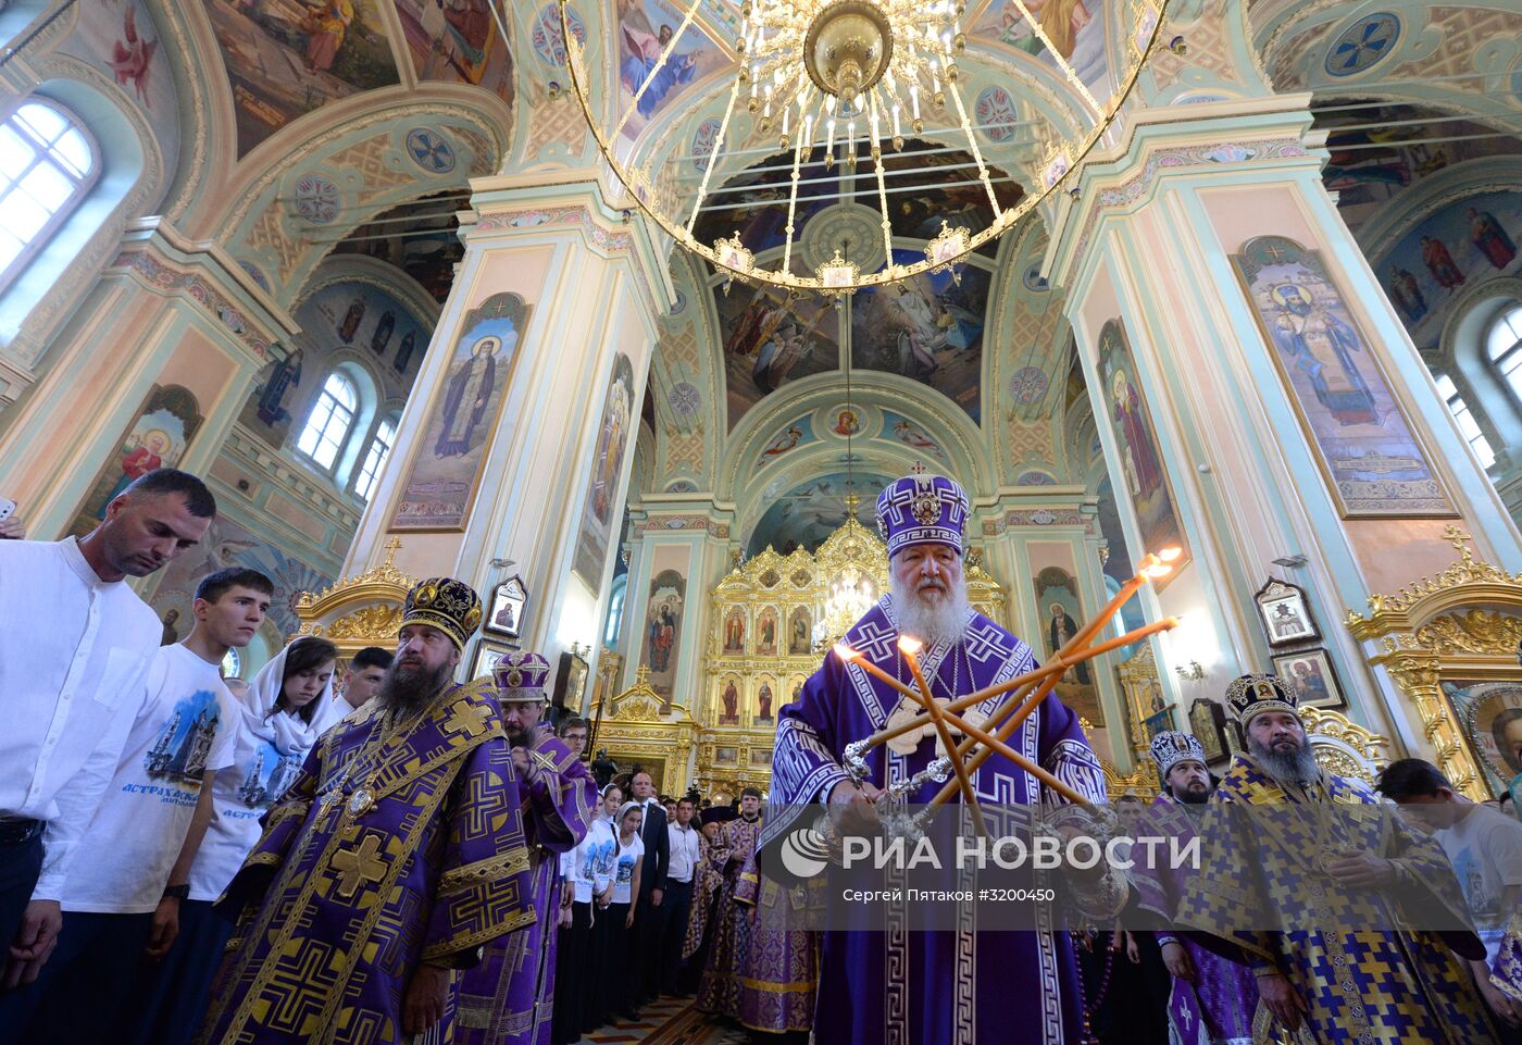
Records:
[[[1482,192],[1423,219],[1379,256],[1374,274],[1411,340],[1429,352],[1464,291],[1522,271],[1519,239],[1522,192]]]

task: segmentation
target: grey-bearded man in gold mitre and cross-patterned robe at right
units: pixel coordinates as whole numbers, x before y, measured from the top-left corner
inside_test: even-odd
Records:
[[[1320,1045],[1495,1042],[1464,961],[1484,944],[1437,841],[1321,769],[1278,676],[1240,676],[1227,705],[1247,753],[1210,798],[1178,925],[1247,964],[1274,1018]]]

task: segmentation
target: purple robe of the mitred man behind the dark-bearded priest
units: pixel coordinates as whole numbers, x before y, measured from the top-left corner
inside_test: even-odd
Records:
[[[455,1040],[460,1045],[548,1045],[560,938],[560,853],[586,838],[597,813],[597,781],[549,730],[534,734],[528,774],[519,781],[530,847],[534,925],[493,940],[481,964],[460,979]]]

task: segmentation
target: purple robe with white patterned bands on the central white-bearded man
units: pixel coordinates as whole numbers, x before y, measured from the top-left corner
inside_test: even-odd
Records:
[[[846,632],[845,641],[913,685],[898,654],[890,603],[884,597]],[[980,614],[973,615],[962,641],[935,643],[921,654],[938,698],[963,696],[1033,664],[1029,646]],[[991,714],[1000,699],[985,701],[979,710]],[[848,778],[840,765],[846,743],[881,730],[898,702],[896,692],[858,664],[825,660],[799,699],[778,716],[767,841],[793,830],[808,803],[825,801]],[[1078,714],[1055,696],[1021,724],[1009,746],[1091,801],[1105,801],[1103,771]],[[928,739],[909,756],[874,748],[866,756],[869,780],[887,786],[913,775],[933,756],[935,742]],[[973,785],[979,800],[989,804],[1061,801],[1047,795],[1035,777],[998,757],[973,774]],[[927,803],[939,789],[939,783],[925,783],[909,800]],[[890,917],[907,914],[895,909]],[[1084,1040],[1078,964],[1067,932],[980,932],[973,905],[959,908],[959,919],[956,932],[907,932],[892,923],[887,932],[823,932],[814,1037],[861,1045],[950,1045],[995,1037],[1041,1045]]]

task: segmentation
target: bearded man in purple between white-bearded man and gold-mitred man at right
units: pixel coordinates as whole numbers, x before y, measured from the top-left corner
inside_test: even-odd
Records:
[[[1152,737],[1163,794],[1137,823],[1137,838],[1172,838],[1178,844],[1198,835],[1196,817],[1210,801],[1212,780],[1205,749],[1189,733],[1163,731]],[[1173,931],[1178,900],[1193,868],[1180,861],[1137,861],[1131,882],[1137,906],[1158,923],[1157,941],[1172,973],[1167,1015],[1181,1045],[1253,1045],[1257,983],[1247,966],[1212,954]]]

